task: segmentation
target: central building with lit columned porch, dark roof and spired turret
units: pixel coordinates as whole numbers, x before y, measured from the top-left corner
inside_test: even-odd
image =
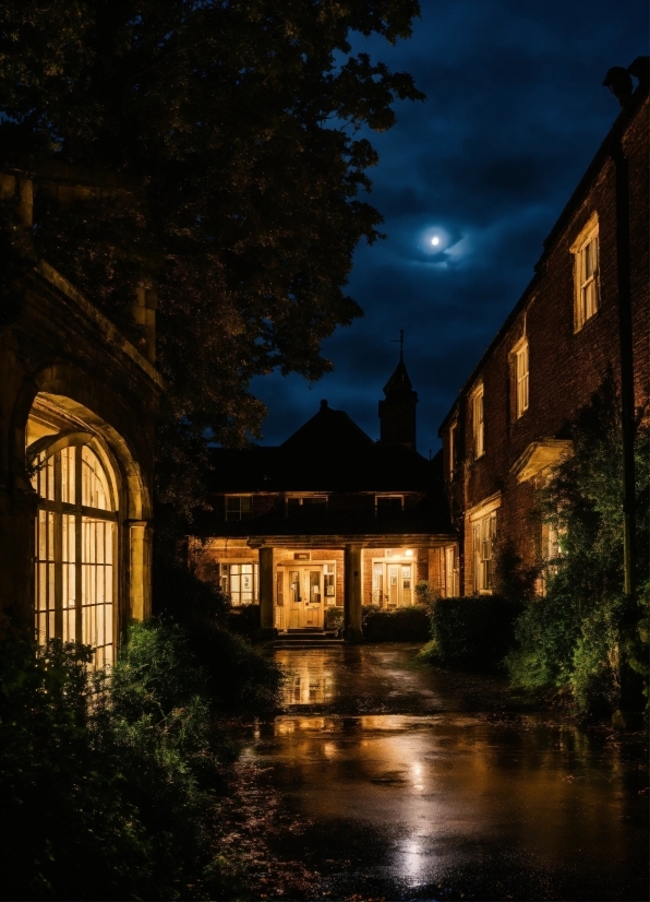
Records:
[[[214,449],[209,514],[191,551],[232,604],[260,603],[264,630],[324,628],[344,608],[349,638],[362,605],[412,605],[441,590],[454,548],[435,463],[416,450],[416,404],[400,359],[373,441],[326,401],[276,448]]]

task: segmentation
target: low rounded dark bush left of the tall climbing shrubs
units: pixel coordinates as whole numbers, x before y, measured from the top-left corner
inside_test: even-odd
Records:
[[[441,666],[495,669],[515,643],[521,605],[499,595],[438,598],[431,609],[432,641],[421,660]]]

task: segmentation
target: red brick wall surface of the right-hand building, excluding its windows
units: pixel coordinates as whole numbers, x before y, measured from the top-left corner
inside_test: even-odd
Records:
[[[631,289],[635,395],[648,400],[648,102],[622,139],[629,159]],[[568,215],[567,215],[568,213]],[[600,298],[597,313],[575,331],[574,253],[571,246],[593,214],[598,215]],[[568,438],[567,426],[589,403],[609,369],[618,379],[618,272],[616,247],[616,173],[605,157],[579,202],[565,211],[538,275],[519,301],[479,369],[473,373],[442,429],[443,455],[452,515],[461,525],[461,585],[473,591],[472,530],[466,512],[501,492],[497,531],[526,565],[539,559],[541,524],[535,518],[534,480],[520,483],[513,466],[532,442]],[[529,347],[529,407],[517,417],[515,345]],[[472,459],[471,393],[483,385],[485,453]],[[449,428],[457,422],[458,466],[449,478]]]

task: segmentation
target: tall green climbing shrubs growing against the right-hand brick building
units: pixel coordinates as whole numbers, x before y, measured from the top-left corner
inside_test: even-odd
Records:
[[[527,689],[570,691],[586,719],[611,716],[641,698],[648,679],[647,602],[623,590],[623,452],[619,401],[609,377],[571,427],[574,453],[541,491],[559,555],[544,561],[546,591],[529,601],[508,656],[511,680]],[[636,440],[636,577],[648,573],[648,430]]]

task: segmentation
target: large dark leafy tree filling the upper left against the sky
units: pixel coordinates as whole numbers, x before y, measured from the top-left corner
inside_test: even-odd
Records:
[[[7,153],[120,175],[132,202],[43,198],[37,250],[132,329],[124,286],[158,286],[168,382],[158,498],[196,503],[206,436],[260,435],[253,376],[317,379],[361,310],[352,253],[380,237],[361,130],[422,99],[349,36],[406,38],[417,0],[25,0],[0,5]]]

